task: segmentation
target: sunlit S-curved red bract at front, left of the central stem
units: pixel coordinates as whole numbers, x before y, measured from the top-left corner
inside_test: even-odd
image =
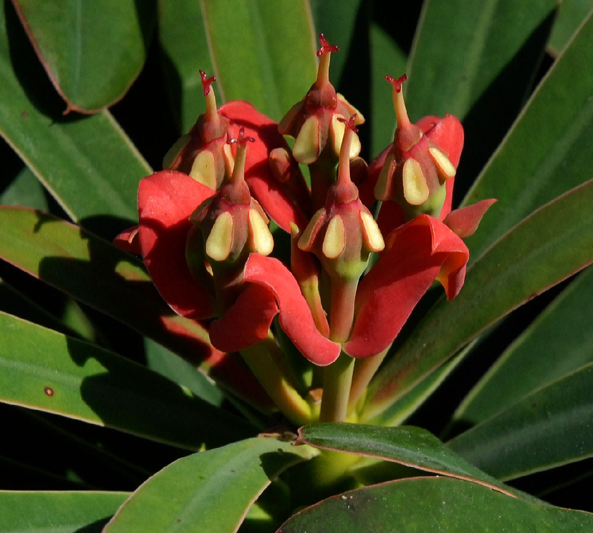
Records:
[[[252,253],[247,259],[243,280],[272,291],[280,309],[280,326],[308,360],[325,366],[338,358],[340,345],[317,331],[297,280],[282,262]]]

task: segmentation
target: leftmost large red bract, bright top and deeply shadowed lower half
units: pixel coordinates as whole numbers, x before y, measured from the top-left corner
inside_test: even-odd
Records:
[[[209,318],[214,300],[208,285],[193,277],[186,262],[190,215],[212,189],[190,176],[162,170],[138,188],[139,237],[144,264],[161,296],[178,315]]]

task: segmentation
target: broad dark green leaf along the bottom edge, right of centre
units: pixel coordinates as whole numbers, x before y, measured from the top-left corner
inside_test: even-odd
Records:
[[[589,531],[593,515],[525,502],[467,481],[415,478],[360,488],[307,507],[278,533]],[[397,526],[395,526],[397,524]]]

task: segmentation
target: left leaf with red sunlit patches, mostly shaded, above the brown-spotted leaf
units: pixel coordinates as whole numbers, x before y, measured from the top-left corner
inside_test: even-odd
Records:
[[[175,315],[139,259],[63,220],[9,207],[0,208],[0,258],[161,342],[265,405],[266,396],[243,370],[242,360],[215,350],[199,322]]]

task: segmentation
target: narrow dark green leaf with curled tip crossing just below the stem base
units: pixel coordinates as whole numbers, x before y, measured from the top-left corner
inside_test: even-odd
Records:
[[[513,494],[510,487],[503,486],[495,478],[451,453],[432,433],[420,427],[380,427],[335,422],[311,424],[299,429],[297,442],[324,450],[393,461]]]

